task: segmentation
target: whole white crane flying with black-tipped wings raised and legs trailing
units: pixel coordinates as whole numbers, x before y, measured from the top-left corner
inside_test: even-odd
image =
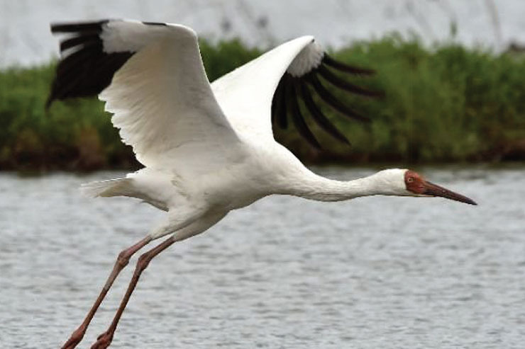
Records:
[[[197,35],[183,25],[109,20],[55,24],[51,30],[67,37],[60,43],[62,58],[48,106],[55,100],[100,93],[123,142],[133,147],[145,166],[126,178],[87,183],[82,191],[93,198],[138,198],[167,212],[144,239],[118,254],[99,297],[64,349],[82,340],[109,287],[140,248],[169,236],[138,258],[113,322],[92,348],[109,346],[140,273],[153,257],[176,241],[205,231],[231,210],[267,195],[320,201],[367,195],[441,196],[475,205],[406,169],[388,169],[354,181],[323,178],[275,142],[272,124],[286,127],[289,115],[297,131],[319,147],[304,121],[305,111],[323,130],[348,142],[321,112],[319,101],[351,118],[365,118],[339,101],[326,84],[351,93],[378,94],[334,73],[372,71],[332,59],[311,36],[285,42],[209,84]],[[312,93],[318,95],[317,101]]]

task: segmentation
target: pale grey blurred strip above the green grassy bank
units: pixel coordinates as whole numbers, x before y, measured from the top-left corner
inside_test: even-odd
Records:
[[[311,34],[328,47],[397,32],[426,44],[459,42],[494,52],[525,45],[525,5],[517,0],[2,0],[0,66],[42,64],[57,56],[50,21],[138,18],[183,23],[216,42],[241,38],[266,49]],[[451,25],[455,35],[451,35]]]

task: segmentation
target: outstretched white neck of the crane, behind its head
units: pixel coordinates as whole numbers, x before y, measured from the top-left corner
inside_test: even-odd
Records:
[[[292,195],[317,201],[342,201],[370,195],[397,195],[377,174],[353,181],[334,181],[309,173],[292,184]]]

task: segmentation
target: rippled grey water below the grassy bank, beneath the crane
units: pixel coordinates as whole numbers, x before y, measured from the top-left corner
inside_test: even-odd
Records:
[[[477,207],[271,197],[232,212],[150,264],[111,348],[524,348],[524,170],[421,169]],[[120,175],[0,174],[0,348],[59,348],[117,253],[160,219],[79,196]],[[109,325],[134,261],[79,348]]]

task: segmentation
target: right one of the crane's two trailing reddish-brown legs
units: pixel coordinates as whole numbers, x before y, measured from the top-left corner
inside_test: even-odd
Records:
[[[111,325],[109,326],[106,332],[102,333],[97,338],[96,343],[94,343],[94,345],[92,345],[91,347],[92,349],[104,349],[107,348],[109,344],[111,344],[111,340],[113,339],[113,335],[115,333],[118,321],[121,319],[122,313],[126,308],[126,305],[128,304],[128,300],[131,296],[131,293],[133,293],[133,290],[135,290],[138,278],[140,278],[140,274],[146,267],[148,267],[148,264],[153,259],[153,257],[157,256],[157,254],[170,247],[173,243],[175,243],[175,241],[177,241],[177,239],[175,239],[175,236],[171,236],[169,239],[162,242],[162,244],[155,246],[150,251],[143,253],[138,258],[135,271],[133,272],[133,277],[131,278],[131,281],[128,285],[128,290],[126,290],[126,294],[124,294],[124,297],[121,301],[121,305],[118,307],[113,321],[111,321]]]

